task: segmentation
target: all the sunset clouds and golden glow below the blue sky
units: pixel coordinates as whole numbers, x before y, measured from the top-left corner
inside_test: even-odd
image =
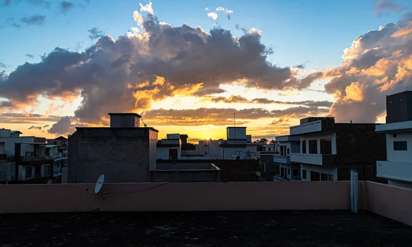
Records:
[[[58,8],[65,14],[77,4],[61,1]],[[231,22],[237,11],[229,7],[208,6],[205,18],[218,21],[225,14]],[[385,116],[385,95],[412,87],[412,14],[390,1],[377,1],[371,12],[375,18],[396,12],[399,21],[359,34],[341,47],[343,62],[324,69],[273,62],[264,30],[236,25],[242,30],[236,36],[215,25],[206,32],[160,21],[155,10],[155,3],[140,3],[130,11],[135,27],[115,38],[89,27],[93,43],[81,51],[56,47],[36,62],[24,53],[29,62],[0,72],[0,125],[25,124],[37,135],[58,136],[76,126],[107,126],[109,112],[135,112],[149,126],[182,126],[190,133],[181,134],[201,139],[199,126],[216,132],[232,125],[236,113],[236,125],[271,138],[309,116],[374,123]],[[14,20],[42,25],[48,18]]]

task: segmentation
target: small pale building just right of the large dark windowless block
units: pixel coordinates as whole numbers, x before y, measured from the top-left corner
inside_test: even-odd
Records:
[[[157,159],[181,159],[180,134],[166,134],[166,139],[157,141]]]

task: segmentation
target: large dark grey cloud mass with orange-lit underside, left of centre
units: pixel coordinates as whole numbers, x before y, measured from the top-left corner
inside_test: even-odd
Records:
[[[36,103],[39,95],[80,94],[75,117],[98,123],[108,112],[147,109],[173,95],[222,93],[220,84],[305,89],[321,76],[298,78],[295,70],[271,64],[266,58],[271,49],[261,43],[260,32],[236,38],[220,28],[206,33],[200,27],[173,27],[159,23],[149,7],[145,16],[133,13],[139,31],[117,40],[102,36],[82,52],[56,48],[41,62],[21,64],[0,78],[0,97],[18,108]]]

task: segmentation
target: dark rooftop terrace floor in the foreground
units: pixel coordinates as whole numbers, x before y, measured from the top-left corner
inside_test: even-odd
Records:
[[[409,246],[411,232],[349,211],[0,215],[0,246]]]

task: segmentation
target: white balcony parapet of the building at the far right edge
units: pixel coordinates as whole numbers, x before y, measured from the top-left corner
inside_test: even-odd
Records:
[[[376,176],[412,182],[412,163],[376,161]]]

